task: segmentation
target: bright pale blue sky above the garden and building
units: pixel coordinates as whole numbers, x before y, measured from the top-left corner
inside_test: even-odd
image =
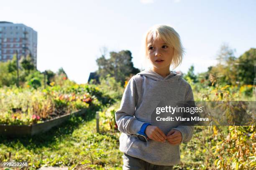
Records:
[[[130,50],[143,69],[141,41],[155,24],[179,33],[186,54],[175,70],[203,72],[216,63],[223,43],[236,57],[256,47],[255,0],[5,0],[0,21],[23,23],[38,32],[38,70],[57,71],[85,83],[97,70],[100,48]]]

